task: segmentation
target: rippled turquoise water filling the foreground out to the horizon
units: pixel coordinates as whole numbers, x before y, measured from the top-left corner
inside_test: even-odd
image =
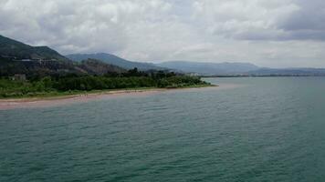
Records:
[[[0,111],[0,181],[325,181],[325,77],[207,80]]]

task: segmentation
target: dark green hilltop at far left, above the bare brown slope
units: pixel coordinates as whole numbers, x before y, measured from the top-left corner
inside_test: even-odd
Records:
[[[68,61],[48,46],[31,46],[0,35],[0,57],[11,59],[44,59]]]

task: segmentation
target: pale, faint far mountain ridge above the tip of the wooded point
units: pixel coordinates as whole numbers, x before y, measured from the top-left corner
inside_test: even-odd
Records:
[[[156,64],[156,66],[201,75],[234,75],[259,69],[258,66],[250,63],[199,63],[189,61],[169,61]]]

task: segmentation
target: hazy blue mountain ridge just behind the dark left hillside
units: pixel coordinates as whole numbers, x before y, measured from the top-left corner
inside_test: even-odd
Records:
[[[150,69],[163,69],[159,66],[154,66],[150,63],[140,63],[140,62],[132,62],[128,61],[126,59],[123,59],[119,56],[114,56],[106,53],[98,53],[98,54],[75,54],[75,55],[67,55],[67,57],[74,61],[82,61],[87,59],[97,59],[104,63],[120,66],[125,69],[132,69],[134,67],[137,67],[140,70],[150,70]]]

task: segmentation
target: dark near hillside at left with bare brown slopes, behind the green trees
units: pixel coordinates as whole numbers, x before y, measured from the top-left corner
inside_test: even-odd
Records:
[[[104,75],[126,71],[95,59],[73,62],[48,46],[26,45],[0,35],[0,76]]]

